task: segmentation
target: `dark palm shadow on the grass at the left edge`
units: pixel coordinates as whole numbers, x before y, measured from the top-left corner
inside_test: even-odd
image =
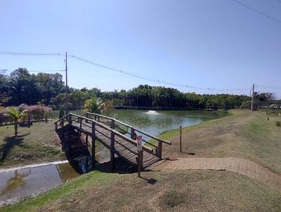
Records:
[[[27,135],[30,135],[30,133],[18,135],[17,138],[6,136],[4,138],[4,144],[1,145],[1,147],[0,147],[0,154],[1,154],[0,162],[3,162],[6,159],[6,157],[8,156],[9,152],[11,152],[13,147],[15,147],[16,145],[20,145],[22,143],[22,140],[24,139],[24,137]]]

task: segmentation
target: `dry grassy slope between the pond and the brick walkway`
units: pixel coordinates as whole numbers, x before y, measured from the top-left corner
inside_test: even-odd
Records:
[[[168,131],[160,138],[164,157],[240,157],[281,174],[281,117],[266,112],[233,110],[232,115],[183,129],[183,153],[179,152],[179,131]],[[269,117],[269,121],[268,118]]]

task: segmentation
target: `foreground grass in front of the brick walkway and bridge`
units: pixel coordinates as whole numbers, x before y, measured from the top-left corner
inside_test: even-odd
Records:
[[[0,211],[280,211],[281,194],[225,171],[93,171]]]

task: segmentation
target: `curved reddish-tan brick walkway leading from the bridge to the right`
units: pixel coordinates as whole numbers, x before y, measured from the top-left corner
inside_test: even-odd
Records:
[[[163,164],[164,165],[164,164]],[[224,170],[232,171],[249,178],[254,178],[265,183],[274,190],[281,192],[281,175],[277,175],[270,169],[260,166],[247,159],[236,157],[227,158],[179,158],[169,161],[164,170]]]

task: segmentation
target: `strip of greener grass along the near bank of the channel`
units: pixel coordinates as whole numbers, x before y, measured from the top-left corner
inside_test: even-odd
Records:
[[[70,180],[64,185],[46,192],[38,197],[27,199],[20,204],[13,206],[6,206],[0,208],[0,211],[37,211],[39,208],[46,204],[50,204],[52,201],[62,199],[63,201],[72,201],[72,194],[81,194],[87,187],[93,185],[109,185],[112,180],[116,180],[120,175],[114,173],[101,173],[99,171],[93,171],[91,173],[81,175],[74,180]],[[82,197],[81,196],[81,197]]]

